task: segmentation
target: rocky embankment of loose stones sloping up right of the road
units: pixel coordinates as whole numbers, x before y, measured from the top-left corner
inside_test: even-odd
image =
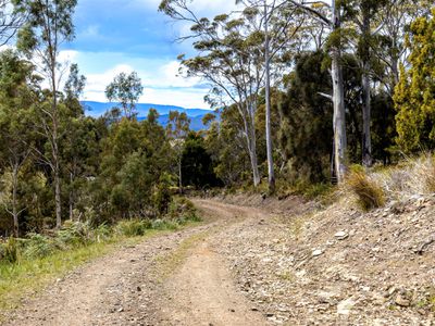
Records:
[[[362,213],[227,199],[274,214],[219,239],[239,289],[275,325],[435,325],[435,197]]]

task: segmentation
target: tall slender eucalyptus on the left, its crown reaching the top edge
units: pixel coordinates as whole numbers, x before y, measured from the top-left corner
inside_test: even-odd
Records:
[[[44,155],[53,173],[57,227],[62,224],[61,203],[61,112],[59,85],[62,73],[59,53],[64,42],[74,38],[73,14],[77,0],[14,0],[15,11],[26,15],[26,24],[18,30],[17,48],[39,64],[40,73],[49,82],[49,105],[40,105],[40,129],[46,136],[50,155]]]

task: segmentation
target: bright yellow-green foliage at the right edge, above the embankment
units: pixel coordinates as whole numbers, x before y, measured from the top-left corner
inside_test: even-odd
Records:
[[[405,152],[435,148],[435,10],[432,18],[420,17],[407,41],[411,67],[401,67],[395,89],[398,145]]]

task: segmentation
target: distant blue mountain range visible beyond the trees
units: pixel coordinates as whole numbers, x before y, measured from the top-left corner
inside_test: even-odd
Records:
[[[86,115],[99,117],[103,115],[105,112],[116,106],[117,103],[108,102],[94,102],[94,101],[82,101],[82,105],[85,108]],[[161,104],[151,104],[151,103],[138,103],[136,105],[136,111],[138,112],[137,118],[139,121],[147,118],[148,112],[150,109],[156,109],[159,112],[159,123],[165,127],[169,123],[169,113],[170,111],[178,111],[185,112],[188,117],[190,117],[190,129],[192,130],[201,130],[204,129],[206,126],[202,124],[202,117],[208,113],[213,113],[219,117],[219,114],[212,110],[206,109],[186,109],[182,106],[175,105],[161,105]]]

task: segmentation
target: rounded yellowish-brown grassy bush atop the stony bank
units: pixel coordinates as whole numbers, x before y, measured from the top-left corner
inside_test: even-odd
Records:
[[[364,211],[385,204],[384,191],[362,170],[353,170],[349,174],[347,186],[357,196],[358,204]]]

